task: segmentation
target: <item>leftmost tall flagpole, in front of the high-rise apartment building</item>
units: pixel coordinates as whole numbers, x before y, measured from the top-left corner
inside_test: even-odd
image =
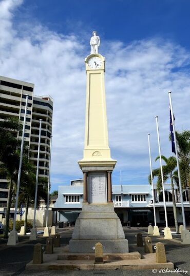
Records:
[[[16,210],[17,210],[17,206],[18,206],[18,193],[19,193],[20,182],[21,182],[21,169],[22,169],[22,162],[23,162],[23,149],[24,149],[24,140],[25,140],[25,125],[26,125],[27,107],[28,107],[28,94],[26,94],[26,103],[25,103],[25,116],[24,116],[24,122],[23,122],[21,155],[20,155],[20,163],[19,163],[18,179],[17,179],[17,187],[16,187],[16,202],[15,202],[15,207],[14,207],[13,230],[15,230],[15,227],[16,227]]]

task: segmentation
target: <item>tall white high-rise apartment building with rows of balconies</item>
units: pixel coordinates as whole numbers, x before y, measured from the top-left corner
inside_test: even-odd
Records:
[[[49,95],[33,95],[34,84],[14,80],[9,77],[0,76],[0,120],[6,117],[18,117],[21,124],[24,121],[26,94],[28,98],[28,109],[25,126],[25,143],[29,145],[30,159],[36,166],[37,148],[39,142],[39,120],[42,119],[40,166],[39,176],[48,177],[50,135],[52,132],[53,99]],[[19,134],[17,134],[19,135]],[[7,202],[8,181],[5,175],[0,174],[0,205]]]

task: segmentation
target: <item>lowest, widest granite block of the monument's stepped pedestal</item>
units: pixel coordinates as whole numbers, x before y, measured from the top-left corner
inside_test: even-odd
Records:
[[[128,241],[122,240],[74,240],[69,241],[69,251],[73,253],[94,253],[95,244],[100,242],[103,245],[103,252],[128,252]]]

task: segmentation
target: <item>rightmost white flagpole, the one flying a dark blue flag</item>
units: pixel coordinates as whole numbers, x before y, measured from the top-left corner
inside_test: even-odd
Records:
[[[179,159],[178,159],[178,149],[177,149],[177,142],[176,142],[176,130],[175,130],[175,123],[174,123],[174,113],[173,113],[173,107],[172,107],[172,91],[168,92],[169,95],[169,105],[172,115],[172,125],[173,125],[173,133],[174,133],[174,144],[175,144],[175,150],[176,150],[176,161],[177,161],[177,168],[178,168],[178,179],[179,179],[179,190],[180,190],[180,197],[181,197],[181,209],[182,209],[182,217],[183,217],[183,226],[184,230],[186,229],[186,222],[185,222],[185,211],[184,211],[184,205],[183,205],[183,193],[181,188],[181,176],[180,176],[180,168],[179,168]]]

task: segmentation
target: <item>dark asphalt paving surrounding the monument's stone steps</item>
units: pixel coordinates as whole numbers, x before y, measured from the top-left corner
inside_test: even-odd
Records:
[[[59,229],[62,232],[62,245],[68,244],[72,235],[72,227],[66,227],[64,229]],[[136,234],[141,232],[143,236],[147,235],[147,228],[131,228],[130,230],[124,227],[124,232],[126,234],[126,239],[129,241],[129,250],[132,251],[136,244]],[[162,235],[163,236],[163,235]],[[25,265],[32,260],[33,245],[37,242],[42,244],[46,243],[46,238],[39,236],[37,241],[29,241],[29,237],[19,237],[19,244],[17,246],[7,246],[7,240],[0,239],[0,275],[1,276],[27,276],[27,275],[69,275],[69,276],[126,276],[126,275],[188,275],[190,276],[190,246],[182,246],[180,243],[180,236],[174,235],[176,239],[172,241],[160,240],[158,238],[152,237],[153,244],[161,241],[165,244],[167,260],[175,264],[176,271],[185,270],[187,272],[169,272],[169,271],[151,271],[151,270],[141,270],[141,271],[121,271],[121,270],[93,270],[93,271],[27,271],[25,270]]]

